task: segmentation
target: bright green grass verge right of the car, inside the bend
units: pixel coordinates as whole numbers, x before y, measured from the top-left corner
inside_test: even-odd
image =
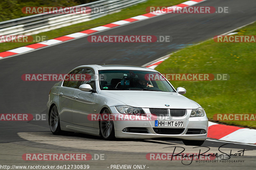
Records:
[[[237,31],[240,35],[256,35],[256,22]],[[217,43],[211,39],[172,54],[156,67],[156,70],[167,74],[229,74],[228,81],[171,81],[171,83],[175,88],[186,88],[187,93],[184,96],[199,103],[210,121],[213,121],[213,115],[217,113],[255,114],[255,45],[255,43]],[[256,128],[256,121],[219,123]]]

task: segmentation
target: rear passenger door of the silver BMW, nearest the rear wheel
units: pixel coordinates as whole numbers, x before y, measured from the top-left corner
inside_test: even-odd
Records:
[[[69,74],[82,74],[84,68],[76,69]],[[59,91],[59,114],[60,120],[72,123],[72,104],[74,93],[79,81],[63,81]]]

